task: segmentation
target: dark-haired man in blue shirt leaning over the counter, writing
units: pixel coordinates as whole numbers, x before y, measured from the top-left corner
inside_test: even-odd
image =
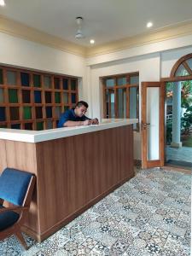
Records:
[[[87,112],[87,102],[80,101],[75,108],[67,110],[61,114],[58,128],[72,127],[80,125],[98,125],[98,119],[89,119],[84,114]]]

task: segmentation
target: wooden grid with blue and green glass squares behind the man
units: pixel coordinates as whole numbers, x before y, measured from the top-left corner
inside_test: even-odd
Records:
[[[0,66],[0,128],[56,128],[78,100],[77,78]]]

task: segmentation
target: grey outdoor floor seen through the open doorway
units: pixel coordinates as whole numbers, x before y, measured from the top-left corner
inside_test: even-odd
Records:
[[[192,163],[192,148],[171,148],[166,146],[166,160],[180,160]]]

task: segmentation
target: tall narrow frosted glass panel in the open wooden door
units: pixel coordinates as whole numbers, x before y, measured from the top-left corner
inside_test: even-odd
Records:
[[[159,160],[160,88],[147,88],[148,160]]]

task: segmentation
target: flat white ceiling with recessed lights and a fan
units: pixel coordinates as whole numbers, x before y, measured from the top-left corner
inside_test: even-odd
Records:
[[[192,0],[5,0],[0,15],[76,44],[90,46],[192,20]],[[84,17],[84,39],[74,38]],[[147,29],[146,23],[154,22]]]

